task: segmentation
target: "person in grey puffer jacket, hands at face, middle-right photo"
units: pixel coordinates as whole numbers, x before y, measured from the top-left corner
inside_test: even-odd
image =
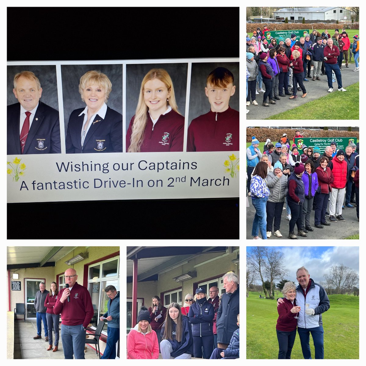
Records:
[[[267,212],[267,238],[272,235],[272,223],[275,219],[274,231],[275,236],[282,237],[280,232],[282,209],[287,195],[287,176],[282,173],[282,164],[277,161],[273,167],[273,172],[267,175],[267,184],[269,188],[269,196],[266,205]]]

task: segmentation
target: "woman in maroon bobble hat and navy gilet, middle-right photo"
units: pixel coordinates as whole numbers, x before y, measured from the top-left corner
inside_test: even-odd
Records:
[[[302,204],[304,202],[304,184],[302,182],[302,175],[304,171],[304,165],[296,162],[294,172],[287,180],[287,204],[290,206],[291,210],[291,220],[289,223],[290,229],[288,233],[289,239],[298,239],[294,234],[295,224],[298,228],[298,235],[307,236],[307,234],[302,231],[301,224]]]

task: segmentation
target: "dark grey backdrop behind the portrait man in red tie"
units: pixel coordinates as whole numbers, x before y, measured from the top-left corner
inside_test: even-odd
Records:
[[[7,105],[18,102],[13,93],[15,74],[22,71],[31,71],[34,72],[41,83],[42,96],[40,100],[59,111],[55,65],[8,66],[7,70]]]

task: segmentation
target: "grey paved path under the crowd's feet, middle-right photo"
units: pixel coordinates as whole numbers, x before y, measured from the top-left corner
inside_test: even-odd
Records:
[[[356,74],[356,73],[355,73]],[[255,208],[253,207],[251,203],[251,198],[249,198],[249,207],[247,207],[247,239],[253,239],[253,236],[251,236],[251,229],[253,225],[253,218],[255,214]],[[285,204],[286,205],[286,204]],[[284,206],[285,206],[284,205]],[[353,204],[354,205],[354,204]],[[328,205],[329,208],[329,205]],[[314,212],[311,211],[310,213],[310,225],[313,227],[314,231],[309,231],[307,233],[307,237],[303,238],[302,236],[299,236],[298,240],[303,239],[316,239],[316,240],[322,240],[322,239],[344,239],[348,236],[355,235],[359,233],[359,222],[357,221],[356,216],[356,208],[345,208],[342,210],[342,216],[346,221],[338,221],[336,223],[331,223],[330,226],[324,226],[322,229],[317,229],[314,227]],[[325,216],[325,219],[328,223],[329,216]],[[288,230],[289,230],[289,224],[290,221],[287,221],[286,219],[286,210],[282,210],[282,216],[281,216],[281,225],[280,225],[280,232],[283,235],[282,238],[277,238],[277,236],[273,235],[273,228],[272,228],[272,236],[268,240],[291,240],[288,239]],[[295,235],[297,235],[297,227],[295,225]],[[259,233],[259,237],[262,237]],[[292,240],[293,242],[297,242],[298,240]],[[321,242],[318,242],[321,243]]]

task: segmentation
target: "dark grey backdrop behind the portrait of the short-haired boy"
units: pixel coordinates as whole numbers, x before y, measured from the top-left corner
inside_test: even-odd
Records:
[[[191,88],[189,96],[188,126],[198,116],[211,110],[210,102],[206,97],[206,79],[211,71],[217,67],[225,67],[234,75],[235,94],[230,98],[230,108],[239,111],[239,63],[238,62],[210,62],[192,63]]]

